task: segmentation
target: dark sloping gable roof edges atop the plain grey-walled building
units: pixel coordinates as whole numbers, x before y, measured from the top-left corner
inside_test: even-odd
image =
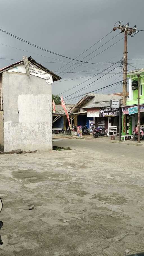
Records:
[[[45,72],[47,72],[48,74],[50,74],[52,77],[53,77],[53,81],[57,81],[57,80],[60,80],[61,77],[59,77],[58,75],[54,74],[52,71],[50,71],[48,68],[45,68],[44,66],[42,66],[40,63],[36,62],[34,59],[30,57],[28,57],[28,60],[33,63],[34,65],[38,66],[39,68],[41,68],[42,70],[44,70]],[[4,68],[1,68],[0,69],[0,73],[3,73],[4,71],[7,71],[8,69],[10,68],[13,68],[14,66],[17,66],[19,64],[22,64],[23,63],[23,60],[20,60],[18,62],[15,62],[9,66],[6,66]]]

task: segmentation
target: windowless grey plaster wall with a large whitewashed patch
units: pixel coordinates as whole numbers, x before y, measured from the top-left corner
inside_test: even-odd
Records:
[[[3,72],[4,151],[52,149],[52,92],[46,80]]]

